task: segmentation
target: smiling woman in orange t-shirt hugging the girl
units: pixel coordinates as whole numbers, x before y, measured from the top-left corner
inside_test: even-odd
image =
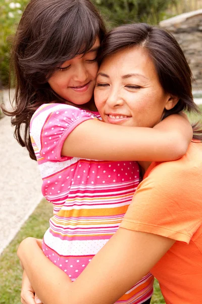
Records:
[[[95,102],[105,122],[152,128],[171,113],[197,111],[186,59],[164,30],[146,24],[118,27],[106,37],[103,58]],[[112,304],[148,271],[159,280],[167,303],[199,303],[201,151],[201,143],[193,141],[178,161],[140,163],[144,179],[120,229],[73,284],[35,239],[24,240],[18,255],[43,303]],[[23,289],[29,283],[26,273]],[[27,297],[22,302],[32,303]]]

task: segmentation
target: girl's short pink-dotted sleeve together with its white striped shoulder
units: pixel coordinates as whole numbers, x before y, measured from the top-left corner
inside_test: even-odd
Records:
[[[67,104],[45,104],[33,116],[30,135],[42,158],[64,161],[61,150],[68,135],[82,122],[97,119],[92,113]]]

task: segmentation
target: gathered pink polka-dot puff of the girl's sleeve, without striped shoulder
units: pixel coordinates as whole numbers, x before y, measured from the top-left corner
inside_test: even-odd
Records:
[[[53,104],[46,110],[40,133],[41,157],[50,161],[64,161],[61,150],[68,135],[82,122],[96,119],[92,113],[66,104]]]

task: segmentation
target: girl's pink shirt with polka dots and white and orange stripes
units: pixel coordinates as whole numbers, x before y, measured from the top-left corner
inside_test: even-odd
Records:
[[[74,128],[97,117],[98,113],[51,103],[40,106],[30,124],[42,194],[54,206],[42,248],[72,281],[118,230],[139,184],[136,162],[61,156]],[[142,303],[152,292],[153,276],[148,274],[117,303]]]

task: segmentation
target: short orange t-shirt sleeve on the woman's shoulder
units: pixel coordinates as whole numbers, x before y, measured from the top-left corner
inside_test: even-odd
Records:
[[[162,163],[139,184],[121,227],[189,243],[201,224],[197,168]]]

